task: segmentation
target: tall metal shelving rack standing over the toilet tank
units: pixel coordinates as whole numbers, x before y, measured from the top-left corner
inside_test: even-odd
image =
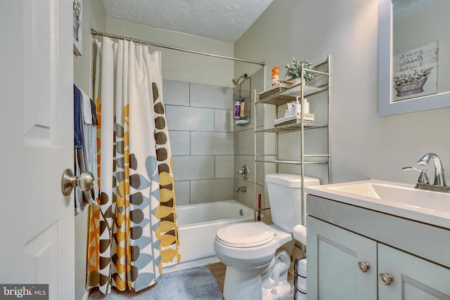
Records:
[[[304,186],[304,167],[306,164],[322,164],[326,167],[326,171],[328,172],[328,178],[326,178],[327,183],[331,183],[331,150],[330,150],[330,105],[331,105],[331,93],[330,93],[330,56],[327,56],[326,60],[319,65],[314,66],[314,70],[308,70],[303,67],[301,69],[301,74],[304,72],[311,72],[314,74],[314,79],[307,82],[307,84],[293,84],[292,86],[286,86],[283,84],[278,84],[276,88],[266,89],[266,91],[262,91],[257,93],[255,91],[255,112],[257,112],[257,106],[261,104],[266,105],[274,105],[274,110],[276,114],[276,119],[281,119],[281,113],[283,110],[279,110],[278,107],[281,105],[286,105],[291,101],[299,100],[304,107],[304,98],[307,96],[313,96],[319,93],[323,93],[326,96],[317,96],[314,99],[309,98],[309,103],[313,104],[315,101],[326,101],[327,103],[322,103],[323,106],[326,107],[326,112],[316,112],[316,115],[320,115],[321,117],[316,118],[319,120],[324,119],[325,121],[322,124],[316,124],[314,120],[314,124],[311,122],[304,122],[304,110],[302,109],[300,115],[300,122],[293,122],[293,124],[281,124],[280,126],[264,126],[264,120],[259,120],[261,123],[256,124],[255,122],[255,174],[259,174],[258,168],[261,168],[261,164],[269,163],[275,164],[275,171],[278,173],[279,166],[281,164],[290,164],[300,166],[300,174],[302,178],[302,186]],[[303,77],[303,76],[302,76]],[[300,78],[302,78],[300,77]],[[319,103],[318,103],[319,104]],[[323,114],[326,114],[323,117]],[[307,130],[325,130],[324,134],[327,138],[326,143],[327,148],[324,152],[314,153],[314,154],[305,154],[304,152],[304,144],[305,144],[305,131]],[[283,133],[289,133],[293,131],[298,131],[300,138],[300,159],[293,160],[285,160],[280,159],[280,148],[278,147],[278,136]],[[266,133],[275,133],[276,138],[276,149],[275,153],[258,153],[257,150],[259,145],[257,143],[257,138],[261,138],[261,136],[266,136]],[[323,134],[323,133],[321,133]],[[264,147],[262,147],[264,148]],[[262,167],[264,171],[264,167]],[[308,174],[309,176],[314,176],[314,174]],[[327,176],[326,176],[327,177]],[[324,178],[321,178],[321,184],[326,184],[323,182]],[[255,195],[257,195],[257,179],[255,179]],[[305,207],[306,197],[304,193],[302,193],[302,207]],[[258,200],[255,199],[255,219],[256,215],[260,214],[261,211],[264,211],[269,208],[259,208],[257,206]],[[304,225],[304,214],[302,214],[302,225]],[[297,260],[295,261],[295,266],[297,265]],[[297,299],[297,292],[304,293],[297,286],[297,278],[300,274],[297,272],[297,268],[295,268],[295,299]]]

